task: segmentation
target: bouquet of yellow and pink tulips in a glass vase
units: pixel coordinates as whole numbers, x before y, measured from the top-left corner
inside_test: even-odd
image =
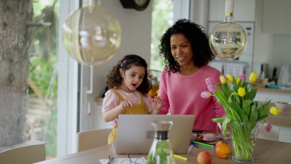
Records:
[[[205,81],[209,91],[201,93],[202,98],[209,98],[214,96],[217,102],[223,105],[226,116],[222,118],[213,118],[213,122],[223,123],[222,128],[226,132],[227,123],[231,127],[231,137],[236,158],[250,159],[252,158],[252,150],[254,148],[254,137],[251,137],[251,131],[261,120],[264,120],[266,131],[270,131],[272,126],[265,118],[269,114],[269,103],[271,100],[266,101],[262,105],[258,105],[254,98],[257,94],[257,88],[253,87],[253,83],[257,81],[258,74],[252,73],[249,82],[246,82],[246,76],[240,75],[235,78],[231,75],[221,75],[221,87],[216,84],[213,78],[207,78]],[[232,83],[232,86],[228,85]],[[278,115],[280,110],[277,107],[271,107],[270,113]],[[236,123],[248,123],[248,125],[236,126]],[[250,143],[250,144],[246,144]]]

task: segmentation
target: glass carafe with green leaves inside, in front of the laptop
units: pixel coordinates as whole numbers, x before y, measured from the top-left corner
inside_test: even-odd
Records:
[[[155,138],[148,152],[147,164],[175,164],[169,131],[173,121],[153,121]]]

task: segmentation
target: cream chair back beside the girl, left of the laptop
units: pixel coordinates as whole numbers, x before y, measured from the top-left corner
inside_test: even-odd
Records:
[[[81,131],[77,133],[77,152],[108,144],[108,136],[112,129]]]

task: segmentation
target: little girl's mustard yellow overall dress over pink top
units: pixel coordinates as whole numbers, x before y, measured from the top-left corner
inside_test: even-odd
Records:
[[[111,89],[122,101],[125,99],[114,89]],[[132,106],[129,108],[129,110],[125,109],[122,111],[122,115],[148,115],[147,109],[146,109],[146,104],[144,103],[144,96],[142,93],[141,95],[141,104],[137,104],[135,106]],[[134,123],[134,122],[133,122]],[[112,141],[116,141],[116,136],[117,136],[117,125],[114,126],[113,130],[108,136],[108,144],[111,144]]]

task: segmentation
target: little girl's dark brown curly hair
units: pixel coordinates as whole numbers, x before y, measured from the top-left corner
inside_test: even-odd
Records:
[[[142,57],[134,54],[126,55],[122,60],[120,60],[116,66],[113,67],[112,71],[107,77],[105,85],[107,85],[108,89],[112,89],[122,83],[122,78],[119,73],[119,68],[121,68],[124,72],[130,69],[131,66],[143,66],[147,68],[146,60]],[[138,92],[141,92],[143,95],[148,93],[148,91],[152,88],[151,81],[147,78],[147,69],[146,74],[144,76],[143,82],[136,88]]]

